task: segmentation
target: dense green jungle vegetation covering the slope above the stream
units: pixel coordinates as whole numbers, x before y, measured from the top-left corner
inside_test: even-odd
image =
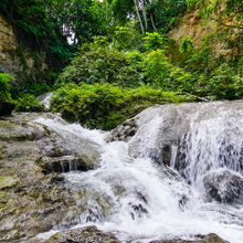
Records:
[[[12,92],[0,74],[0,102],[15,110],[43,112],[34,97],[54,91],[52,110],[110,129],[155,104],[243,97],[242,1],[1,0],[0,11],[52,70],[50,82]],[[214,27],[197,47],[169,35],[190,11]]]

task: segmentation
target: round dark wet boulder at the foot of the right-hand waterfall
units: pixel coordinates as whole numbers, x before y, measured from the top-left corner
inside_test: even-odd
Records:
[[[243,200],[243,177],[228,169],[209,172],[204,179],[208,196],[219,202]]]

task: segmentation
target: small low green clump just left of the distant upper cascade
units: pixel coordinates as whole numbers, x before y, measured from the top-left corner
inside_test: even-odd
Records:
[[[44,112],[44,107],[36,99],[34,99],[33,95],[24,95],[15,99],[13,103],[15,105],[15,112]]]

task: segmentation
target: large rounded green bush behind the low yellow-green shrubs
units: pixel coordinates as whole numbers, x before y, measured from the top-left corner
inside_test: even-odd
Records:
[[[64,68],[57,83],[116,83],[122,86],[138,86],[141,83],[139,65],[108,44],[84,44],[71,65]]]

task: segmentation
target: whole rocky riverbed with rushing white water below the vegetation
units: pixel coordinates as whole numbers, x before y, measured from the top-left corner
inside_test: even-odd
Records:
[[[190,113],[198,106],[201,114],[192,126]],[[208,126],[204,123],[215,119],[222,107],[225,112],[232,108],[229,120],[241,117],[239,102],[214,103],[210,108],[203,104],[158,106],[112,133],[87,130],[51,113],[1,117],[0,242],[228,242],[209,233],[220,235],[221,229],[228,231],[229,226],[229,232],[240,232],[242,157],[241,149],[231,152],[237,151],[235,141],[241,128],[236,126],[240,130],[234,133],[233,125],[226,129],[230,122],[218,123],[225,124],[225,134],[231,139],[229,145],[222,140],[214,148],[222,157],[214,157],[219,161],[209,163],[212,168],[208,166],[209,171],[204,167],[201,173],[194,170],[197,165],[186,149],[193,142],[204,149],[204,138],[197,137],[201,123],[204,129]],[[209,115],[210,110],[216,112]],[[192,130],[194,127],[198,130]],[[222,133],[216,133],[215,129],[212,135],[221,138]],[[201,162],[209,159],[207,149],[203,152],[202,158],[197,155]],[[194,181],[191,171],[197,176]],[[193,194],[192,182],[203,188],[200,200]],[[210,216],[204,219],[207,214]],[[224,220],[225,224],[213,222],[213,218]],[[194,230],[184,219],[196,223]],[[207,222],[212,226],[205,225]],[[187,224],[190,232],[182,237]],[[157,233],[150,233],[145,225]],[[171,229],[175,229],[172,235]],[[168,232],[165,239],[169,240],[163,240],[160,231]]]

